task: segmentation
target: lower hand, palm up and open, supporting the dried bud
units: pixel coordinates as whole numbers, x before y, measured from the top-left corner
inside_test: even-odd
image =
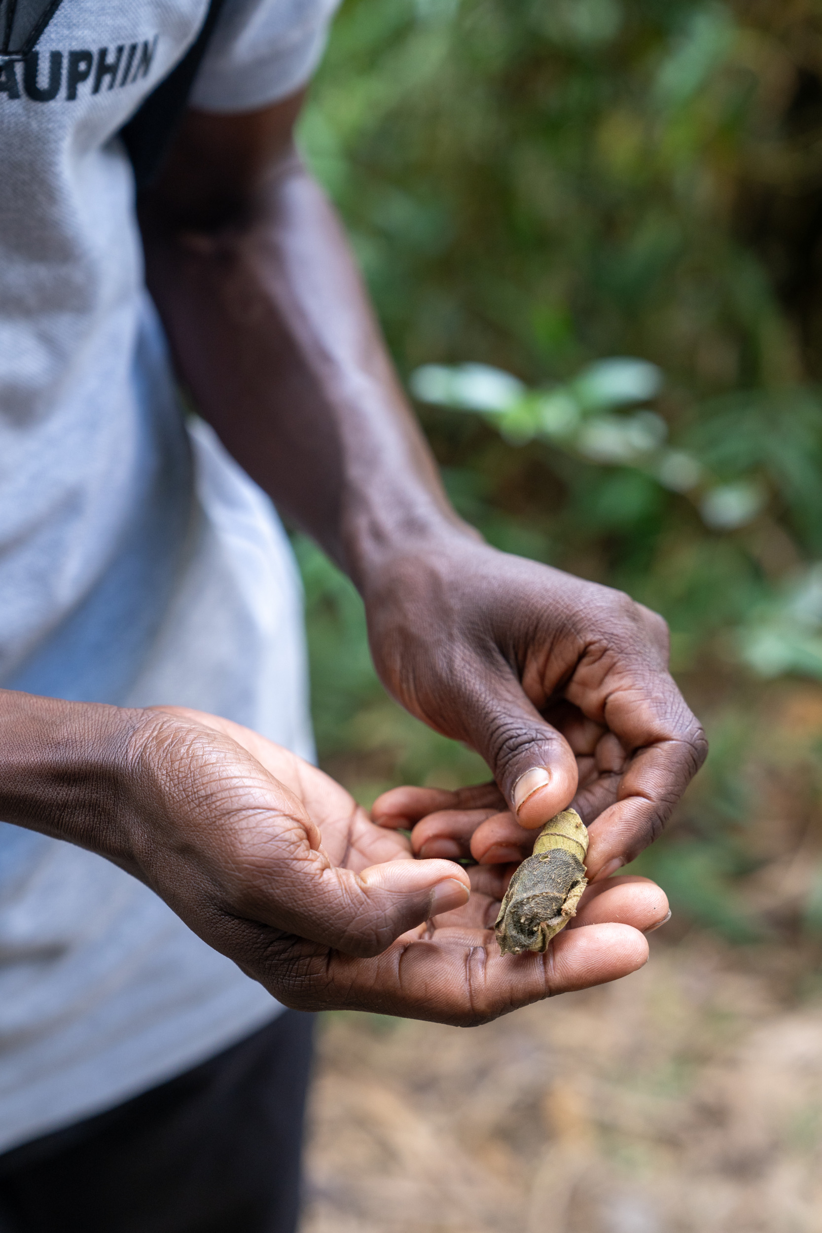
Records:
[[[121,863],[288,1006],[484,1022],[641,967],[667,911],[652,883],[592,888],[545,954],[502,956],[503,867],[413,859],[402,834],[248,729],[158,709],[131,757]]]

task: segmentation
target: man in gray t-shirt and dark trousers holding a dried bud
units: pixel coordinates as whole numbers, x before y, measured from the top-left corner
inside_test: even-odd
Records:
[[[0,1219],[26,1233],[292,1229],[299,1011],[472,1023],[633,970],[664,896],[603,879],[704,756],[659,618],[447,504],[293,147],[332,0],[226,0],[138,231],[117,133],[207,7],[0,5],[26,44],[0,59]],[[399,789],[376,826],[303,761],[260,490],[499,788]],[[572,798],[600,880],[546,956],[503,957],[505,864]]]

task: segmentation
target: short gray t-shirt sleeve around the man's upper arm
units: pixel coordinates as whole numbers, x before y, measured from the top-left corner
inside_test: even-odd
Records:
[[[189,101],[253,111],[285,99],[319,64],[340,0],[226,0]]]

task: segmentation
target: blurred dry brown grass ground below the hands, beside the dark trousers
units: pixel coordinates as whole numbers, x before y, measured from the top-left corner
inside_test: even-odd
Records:
[[[659,938],[482,1028],[328,1017],[302,1233],[817,1233],[822,1000],[785,963]]]

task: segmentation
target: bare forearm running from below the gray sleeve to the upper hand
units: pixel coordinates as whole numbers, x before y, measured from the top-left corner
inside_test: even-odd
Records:
[[[296,153],[214,219],[143,212],[179,372],[227,449],[364,586],[386,552],[465,534],[339,222]]]

